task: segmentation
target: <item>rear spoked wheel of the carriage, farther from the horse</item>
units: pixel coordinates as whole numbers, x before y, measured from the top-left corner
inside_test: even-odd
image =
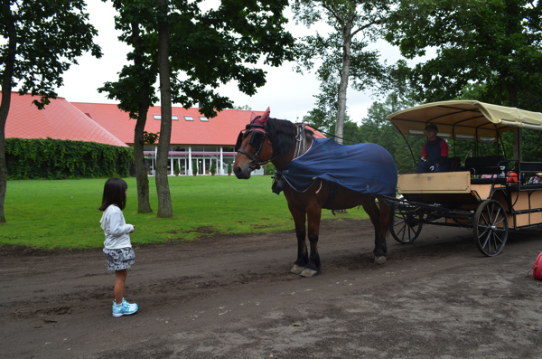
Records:
[[[508,238],[508,217],[502,204],[482,202],[474,214],[472,231],[478,250],[488,257],[499,254]]]

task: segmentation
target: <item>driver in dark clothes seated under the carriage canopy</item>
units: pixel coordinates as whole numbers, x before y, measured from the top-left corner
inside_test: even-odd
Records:
[[[416,174],[425,172],[446,172],[450,170],[448,162],[448,144],[443,138],[436,136],[438,128],[430,123],[425,126],[427,142],[422,147],[422,158],[416,168]]]

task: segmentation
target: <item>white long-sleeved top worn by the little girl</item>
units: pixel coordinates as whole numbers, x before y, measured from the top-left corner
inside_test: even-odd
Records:
[[[101,223],[100,227],[106,234],[104,247],[107,250],[132,247],[128,233],[134,231],[134,226],[126,224],[122,210],[115,204],[111,204],[106,208],[99,222]]]

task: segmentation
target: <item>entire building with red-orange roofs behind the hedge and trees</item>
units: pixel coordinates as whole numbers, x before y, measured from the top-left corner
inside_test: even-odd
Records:
[[[51,104],[39,110],[32,104],[37,99],[30,94],[12,93],[6,122],[5,137],[70,139],[98,142],[113,146],[133,146],[136,120],[118,109],[116,104],[69,102],[51,99]],[[264,111],[224,109],[215,118],[205,118],[199,109],[172,107],[172,137],[170,140],[168,172],[173,175],[175,162],[180,175],[192,175],[196,164],[199,175],[210,175],[214,162],[219,175],[225,175],[228,163],[235,161],[234,150],[239,131],[250,122],[252,113]],[[149,109],[145,131],[160,132],[161,108]],[[316,137],[323,137],[315,131]],[[149,175],[154,175],[156,146],[145,146]],[[263,175],[263,168],[253,172]]]

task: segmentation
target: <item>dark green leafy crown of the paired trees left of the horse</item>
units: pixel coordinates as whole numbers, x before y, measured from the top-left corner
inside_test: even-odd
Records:
[[[142,57],[139,60],[142,65],[139,68],[136,64],[126,66],[119,80],[108,82],[102,90],[109,92],[110,98],[120,100],[122,109],[131,112],[134,118],[136,114],[141,115],[143,109],[140,96],[143,83],[137,77],[144,73],[155,78],[158,71],[159,24],[167,28],[172,102],[184,108],[199,104],[201,113],[208,118],[214,118],[221,109],[233,107],[229,97],[216,90],[220,84],[236,81],[240,91],[254,95],[257,88],[266,83],[266,73],[257,68],[258,61],[263,59],[268,65],[279,66],[283,61],[293,60],[294,39],[283,28],[286,0],[222,0],[217,8],[205,12],[199,3],[187,0],[114,2],[119,10],[117,28],[123,31],[121,40],[132,43],[135,48],[128,59],[136,62],[138,56]],[[162,10],[159,4],[164,5]],[[138,50],[133,40],[135,33],[140,37]],[[164,79],[161,90],[163,86]],[[151,86],[146,109],[156,101],[155,89]],[[171,122],[171,115],[168,118],[163,114],[162,121],[163,125]],[[161,128],[160,132],[158,156],[166,161],[170,136],[167,128]],[[164,164],[157,163],[157,180],[165,173]],[[167,186],[157,181],[158,185]],[[166,193],[164,188],[162,193]],[[159,206],[163,196],[159,192]]]

